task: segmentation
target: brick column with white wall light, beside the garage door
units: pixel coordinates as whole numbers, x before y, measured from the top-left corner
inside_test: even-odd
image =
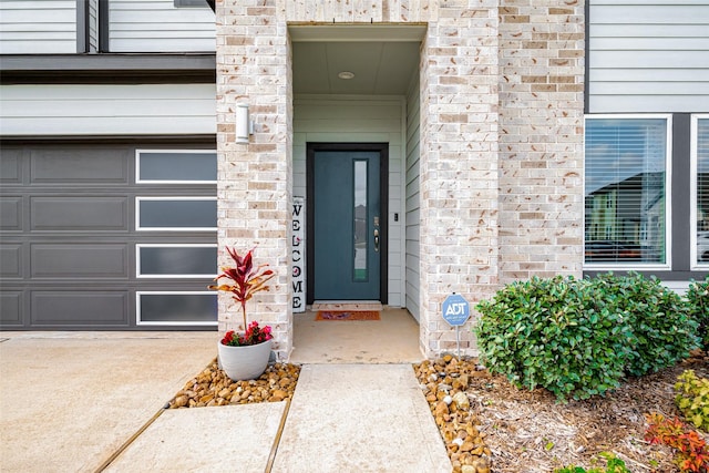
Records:
[[[247,304],[249,320],[270,325],[274,349],[292,347],[289,237],[292,204],[291,58],[282,7],[275,0],[217,2],[217,152],[219,265],[224,247],[257,246],[255,261],[277,273],[268,292]],[[235,106],[249,105],[255,133],[235,143]],[[219,330],[237,329],[240,315],[219,297]]]

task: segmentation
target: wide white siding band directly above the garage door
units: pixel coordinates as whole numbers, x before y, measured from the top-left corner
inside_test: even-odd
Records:
[[[6,135],[216,133],[214,84],[2,85]]]

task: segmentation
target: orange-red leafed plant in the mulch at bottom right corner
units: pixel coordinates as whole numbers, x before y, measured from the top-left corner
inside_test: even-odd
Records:
[[[677,418],[669,420],[658,413],[647,415],[647,421],[649,426],[645,432],[645,440],[677,450],[675,461],[680,472],[709,472],[707,442],[695,430]]]

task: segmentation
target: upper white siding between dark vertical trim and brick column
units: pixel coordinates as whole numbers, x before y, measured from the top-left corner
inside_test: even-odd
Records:
[[[111,0],[111,52],[213,52],[212,9],[175,8],[173,0]]]

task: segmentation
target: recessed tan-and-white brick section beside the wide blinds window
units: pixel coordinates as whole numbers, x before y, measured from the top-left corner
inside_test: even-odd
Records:
[[[501,282],[582,276],[584,2],[500,7]]]

